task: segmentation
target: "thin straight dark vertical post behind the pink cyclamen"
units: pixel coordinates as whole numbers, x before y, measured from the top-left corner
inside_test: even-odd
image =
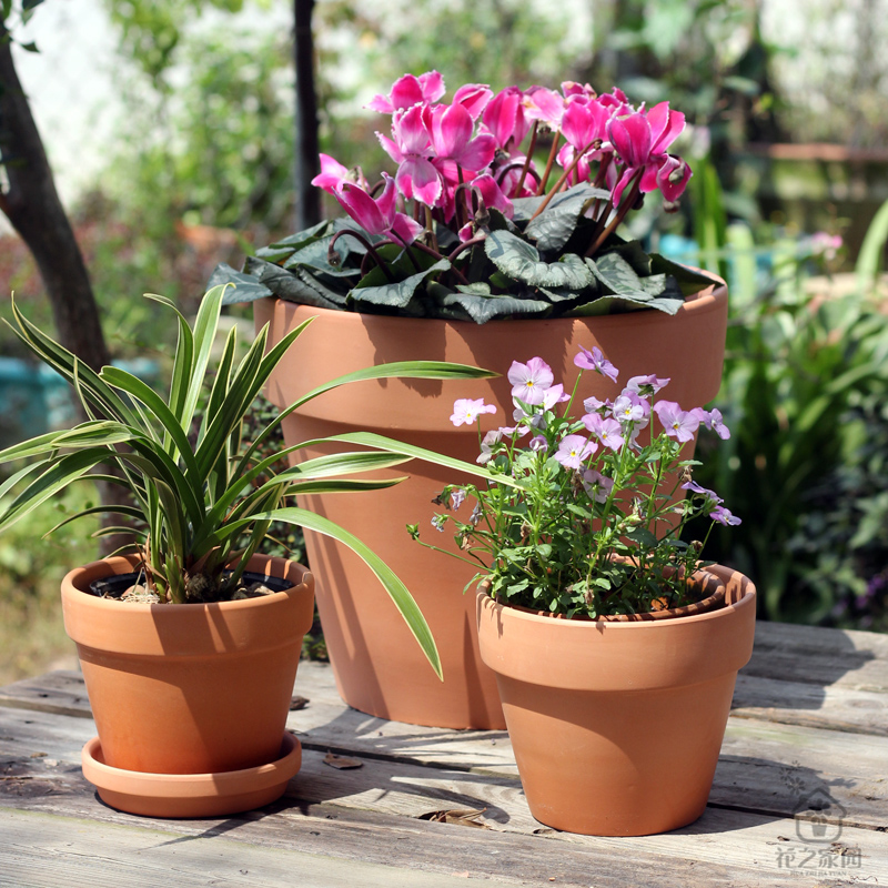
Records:
[[[295,34],[293,61],[296,70],[296,231],[321,221],[321,192],[312,179],[321,171],[317,160],[317,95],[314,88],[314,0],[293,0]]]

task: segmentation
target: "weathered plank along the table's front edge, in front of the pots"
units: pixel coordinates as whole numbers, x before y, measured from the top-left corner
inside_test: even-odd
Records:
[[[14,810],[12,816],[21,814]],[[785,888],[790,880],[794,885],[824,888],[847,885],[851,878],[879,884],[879,877],[888,872],[888,837],[882,833],[846,828],[838,841],[818,849],[814,859],[805,861],[803,855],[809,846],[795,837],[791,821],[718,809],[707,810],[697,824],[684,830],[640,838],[568,836],[553,831],[528,836],[294,799],[224,820],[128,817],[82,796],[32,799],[27,814],[51,815],[50,824],[64,824],[63,839],[74,848],[80,846],[80,826],[84,821],[173,834],[165,842],[152,836],[147,845],[133,842],[125,847],[117,845],[119,834],[110,834],[104,847],[99,849],[99,857],[115,859],[121,856],[122,862],[149,850],[171,848],[175,852],[188,848],[195,839],[219,841],[223,838],[252,848],[284,848],[364,864],[460,874],[464,879],[486,877],[496,882],[533,886],[553,881],[571,888],[636,888],[639,885],[674,888],[676,884],[700,888]],[[4,809],[0,807],[0,829],[3,816]],[[43,821],[31,821],[28,833],[42,834],[46,828]],[[244,859],[239,850],[232,854],[238,860]],[[228,849],[220,851],[220,856],[226,855]],[[793,859],[788,859],[790,855]],[[819,859],[825,860],[824,866],[817,866]],[[184,871],[188,874],[188,868]],[[142,885],[132,879],[120,884],[132,888]],[[261,880],[245,884],[265,885]],[[360,877],[355,881],[355,885],[364,884]],[[413,884],[422,885],[418,879]],[[326,888],[326,882],[320,885]]]

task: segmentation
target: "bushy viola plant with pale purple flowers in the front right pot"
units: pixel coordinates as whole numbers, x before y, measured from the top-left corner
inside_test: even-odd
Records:
[[[443,533],[452,523],[456,557],[513,605],[599,617],[688,604],[687,579],[713,524],[740,523],[693,480],[699,463],[683,454],[700,425],[729,437],[722,414],[658,398],[669,380],[655,375],[634,376],[613,401],[581,402],[585,371],[612,381],[618,371],[597,347],[574,363],[581,372],[568,394],[542,359],[513,362],[512,426],[483,433],[481,416],[495,408],[457,402],[452,421],[477,423],[477,462],[494,478],[445,487],[436,502],[446,511],[432,525]],[[700,516],[709,519],[704,539],[683,541]],[[418,539],[418,528],[410,531]]]

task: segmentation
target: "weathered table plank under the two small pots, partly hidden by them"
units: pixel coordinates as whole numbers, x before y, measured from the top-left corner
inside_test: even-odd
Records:
[[[75,769],[80,747],[93,731],[92,723],[82,718],[0,710],[0,775],[8,769],[13,778],[6,785],[0,781],[0,797],[34,795],[41,787],[65,791],[70,768]],[[524,833],[539,828],[527,809],[514,763],[471,771],[398,757],[367,758],[354,748],[342,751],[363,761],[363,767],[337,770],[323,764],[325,750],[305,748],[295,795],[315,804],[407,817],[485,808],[482,819],[494,828]],[[46,755],[32,758],[40,753]],[[886,761],[888,740],[881,737],[731,720],[710,805],[791,818],[807,795],[819,788],[841,806],[848,826],[880,828],[888,824]],[[23,776],[31,783],[22,785]]]

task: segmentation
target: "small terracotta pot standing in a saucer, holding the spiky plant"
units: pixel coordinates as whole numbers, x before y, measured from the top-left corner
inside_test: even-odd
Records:
[[[62,581],[64,627],[99,730],[95,760],[122,773],[206,777],[281,759],[302,636],[312,622],[312,575],[294,562],[256,555],[250,571],[293,587],[184,605],[121,604],[87,592],[134,563],[112,557]],[[295,753],[289,761],[299,767]]]

